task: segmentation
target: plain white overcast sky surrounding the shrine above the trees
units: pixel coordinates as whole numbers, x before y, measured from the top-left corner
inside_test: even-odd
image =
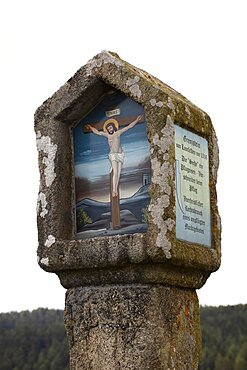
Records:
[[[0,312],[64,307],[36,262],[39,186],[33,114],[102,50],[158,77],[204,109],[220,147],[222,266],[202,305],[247,303],[246,1],[12,0],[0,5]]]

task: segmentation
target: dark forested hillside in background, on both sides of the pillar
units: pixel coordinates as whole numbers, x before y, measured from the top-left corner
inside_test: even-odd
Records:
[[[200,370],[247,369],[247,305],[201,307]],[[1,370],[69,370],[63,311],[0,314]]]

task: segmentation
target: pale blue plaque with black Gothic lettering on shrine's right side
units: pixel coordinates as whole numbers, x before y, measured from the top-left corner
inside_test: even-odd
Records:
[[[175,125],[176,237],[211,247],[208,142]]]

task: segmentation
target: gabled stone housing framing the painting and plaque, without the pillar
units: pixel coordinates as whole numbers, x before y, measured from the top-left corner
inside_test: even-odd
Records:
[[[70,130],[112,88],[145,111],[152,166],[148,231],[75,240]],[[208,142],[212,248],[176,239],[175,123]],[[65,287],[96,284],[100,279],[101,283],[118,283],[120,279],[199,288],[217,270],[221,233],[216,197],[218,146],[205,112],[159,79],[103,51],[37,109],[35,131],[40,167],[38,261],[46,271],[56,272]],[[112,274],[112,268],[117,274]]]

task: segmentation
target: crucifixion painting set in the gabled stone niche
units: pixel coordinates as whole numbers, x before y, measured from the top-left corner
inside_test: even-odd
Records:
[[[146,232],[151,165],[142,106],[113,90],[72,134],[76,238]]]

